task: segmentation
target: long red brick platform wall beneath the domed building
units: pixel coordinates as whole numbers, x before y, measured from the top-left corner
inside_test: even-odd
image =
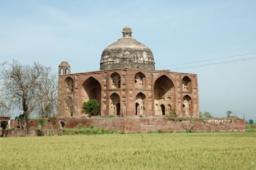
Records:
[[[32,123],[31,123],[32,121]],[[194,126],[193,130],[200,131],[245,131],[245,120],[244,119],[233,119],[233,118],[174,118],[168,120],[166,117],[147,117],[147,118],[101,118],[101,117],[82,117],[82,118],[52,118],[47,120],[46,125],[43,128],[62,128],[60,122],[65,123],[65,128],[77,128],[78,124],[85,126],[87,123],[93,124],[95,127],[101,127],[105,129],[116,129],[124,132],[155,132],[158,130],[162,131],[186,131],[186,128]],[[30,120],[29,127],[37,127],[38,120]],[[195,123],[196,122],[196,123]],[[11,121],[11,127],[18,125],[17,120]]]

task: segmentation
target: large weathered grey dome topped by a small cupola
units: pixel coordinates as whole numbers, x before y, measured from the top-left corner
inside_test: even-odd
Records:
[[[132,38],[130,27],[123,28],[123,38],[105,48],[101,55],[100,70],[116,68],[155,69],[154,56],[144,44]]]

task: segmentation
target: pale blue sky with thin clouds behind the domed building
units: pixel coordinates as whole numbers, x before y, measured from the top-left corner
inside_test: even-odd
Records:
[[[197,74],[200,111],[256,121],[255,7],[255,0],[1,0],[0,62],[38,61],[57,73],[67,60],[72,73],[96,71],[102,51],[130,26],[156,69]]]

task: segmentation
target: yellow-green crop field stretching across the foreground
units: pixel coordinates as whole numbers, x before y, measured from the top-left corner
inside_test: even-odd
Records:
[[[252,130],[0,138],[0,151],[0,169],[256,169]]]

